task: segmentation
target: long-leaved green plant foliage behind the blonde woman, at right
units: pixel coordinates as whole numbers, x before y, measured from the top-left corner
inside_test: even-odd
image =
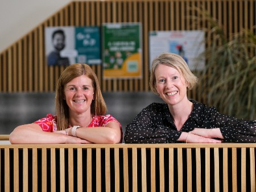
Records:
[[[207,91],[208,105],[223,114],[240,119],[256,119],[256,36],[251,30],[226,35],[223,28],[206,12],[206,66],[200,75],[200,94]],[[253,27],[252,30],[255,30]],[[202,82],[203,81],[203,82]]]

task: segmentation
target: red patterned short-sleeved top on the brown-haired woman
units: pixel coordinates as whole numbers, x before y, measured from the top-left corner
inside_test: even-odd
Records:
[[[109,122],[117,122],[121,131],[121,140],[119,143],[122,143],[123,132],[121,124],[115,119],[112,115],[94,115],[92,122],[90,122],[88,127],[105,127]],[[46,118],[36,120],[34,123],[38,124],[43,131],[54,132],[57,131],[57,116],[52,114],[47,114]],[[71,127],[69,125],[69,127]]]

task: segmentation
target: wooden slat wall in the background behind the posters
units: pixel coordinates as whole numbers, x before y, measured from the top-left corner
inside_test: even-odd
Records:
[[[198,30],[209,28],[195,9],[208,11],[224,27],[227,37],[256,24],[255,0],[112,0],[74,1],[39,24],[0,54],[0,91],[54,91],[63,66],[47,66],[44,28],[48,26],[101,26],[104,22],[141,22],[143,78],[103,80],[101,65],[92,65],[103,91],[148,91],[149,42],[152,30]],[[191,20],[199,16],[202,22]],[[200,24],[198,24],[200,23]],[[254,29],[255,31],[255,29]],[[208,42],[210,43],[210,42]],[[207,43],[207,44],[208,44]],[[188,97],[201,102],[197,86]]]

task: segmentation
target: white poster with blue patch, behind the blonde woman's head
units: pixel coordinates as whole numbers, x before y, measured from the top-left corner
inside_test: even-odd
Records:
[[[204,31],[150,31],[150,65],[156,56],[164,52],[183,57],[191,70],[203,70],[205,59]]]

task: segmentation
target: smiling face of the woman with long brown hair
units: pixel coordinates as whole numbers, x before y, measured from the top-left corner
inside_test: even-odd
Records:
[[[90,105],[93,101],[92,80],[85,76],[73,78],[64,86],[65,100],[69,107],[69,114],[90,114]]]

